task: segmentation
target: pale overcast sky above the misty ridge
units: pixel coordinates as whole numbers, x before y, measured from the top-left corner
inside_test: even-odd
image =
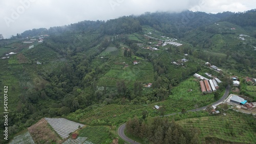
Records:
[[[255,8],[255,0],[1,0],[0,34],[9,38],[34,28],[49,29],[82,20],[108,20],[144,12],[181,12],[188,9],[218,13]]]

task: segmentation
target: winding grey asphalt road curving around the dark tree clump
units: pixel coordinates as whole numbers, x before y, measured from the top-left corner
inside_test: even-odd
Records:
[[[225,91],[225,93],[223,94],[223,96],[221,97],[221,99],[218,100],[218,101],[216,101],[216,102],[213,103],[212,105],[216,105],[216,104],[219,104],[219,103],[223,102],[223,101],[227,98],[228,93],[229,93],[229,90],[230,90],[230,85],[228,85],[228,86],[226,87],[226,91]],[[203,106],[203,107],[200,107],[200,108],[197,108],[197,109],[191,109],[191,110],[188,110],[188,111],[200,111],[200,110],[205,109],[206,107],[207,107],[207,106]],[[164,115],[164,116],[175,115],[175,114],[178,114],[178,113],[181,113],[181,112],[166,114],[166,115]],[[123,140],[125,140],[125,141],[127,141],[127,142],[130,142],[130,143],[133,143],[133,144],[134,144],[134,143],[139,143],[139,142],[136,142],[136,141],[130,139],[129,137],[127,137],[127,136],[124,134],[124,129],[125,129],[125,123],[122,124],[122,125],[118,128],[118,135],[119,135]]]

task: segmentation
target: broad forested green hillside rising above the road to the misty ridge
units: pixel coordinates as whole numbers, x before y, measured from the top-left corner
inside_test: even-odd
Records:
[[[230,84],[229,73],[256,78],[255,16],[254,10],[144,13],[32,29],[0,40],[0,58],[16,53],[0,59],[0,86],[8,86],[10,95],[10,139],[42,117],[111,127],[143,110],[158,116],[215,102]],[[31,49],[32,44],[22,43],[30,39],[36,39]],[[182,45],[163,45],[168,39]],[[202,94],[193,77],[206,72],[223,81],[217,94]],[[114,139],[110,133],[108,139]],[[187,135],[187,141],[198,138]]]

